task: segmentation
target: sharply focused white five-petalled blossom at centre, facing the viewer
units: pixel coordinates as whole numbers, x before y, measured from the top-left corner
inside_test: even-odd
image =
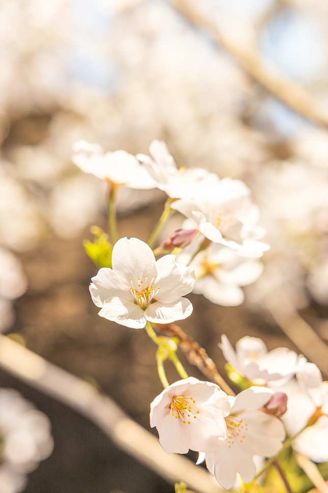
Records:
[[[194,268],[178,264],[174,255],[156,261],[147,243],[125,237],[114,245],[112,266],[101,268],[90,285],[100,316],[141,329],[147,320],[167,324],[192,313],[182,296],[194,287]]]

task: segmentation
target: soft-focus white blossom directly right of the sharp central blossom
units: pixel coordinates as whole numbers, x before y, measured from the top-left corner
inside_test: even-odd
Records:
[[[194,250],[185,250],[177,262],[189,264]],[[190,265],[196,275],[193,292],[223,306],[240,305],[245,298],[240,286],[255,282],[263,272],[263,264],[257,259],[245,259],[228,246],[215,243],[198,253]]]

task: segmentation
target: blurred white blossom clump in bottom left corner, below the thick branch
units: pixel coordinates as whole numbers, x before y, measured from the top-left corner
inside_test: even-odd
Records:
[[[0,491],[18,493],[24,474],[34,471],[52,452],[47,416],[13,389],[0,389]]]

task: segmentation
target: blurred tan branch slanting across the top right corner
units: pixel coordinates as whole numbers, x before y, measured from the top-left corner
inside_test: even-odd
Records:
[[[328,110],[324,111],[323,103],[262,57],[254,43],[238,42],[228,30],[202,13],[197,8],[196,2],[171,0],[171,3],[195,26],[210,32],[215,41],[230,52],[249,75],[283,103],[306,118],[328,127]]]

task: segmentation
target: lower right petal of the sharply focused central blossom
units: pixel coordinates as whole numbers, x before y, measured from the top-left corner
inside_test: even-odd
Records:
[[[145,310],[145,316],[149,322],[155,324],[170,324],[176,320],[183,320],[191,315],[193,305],[186,298],[178,298],[172,303],[155,302]]]

